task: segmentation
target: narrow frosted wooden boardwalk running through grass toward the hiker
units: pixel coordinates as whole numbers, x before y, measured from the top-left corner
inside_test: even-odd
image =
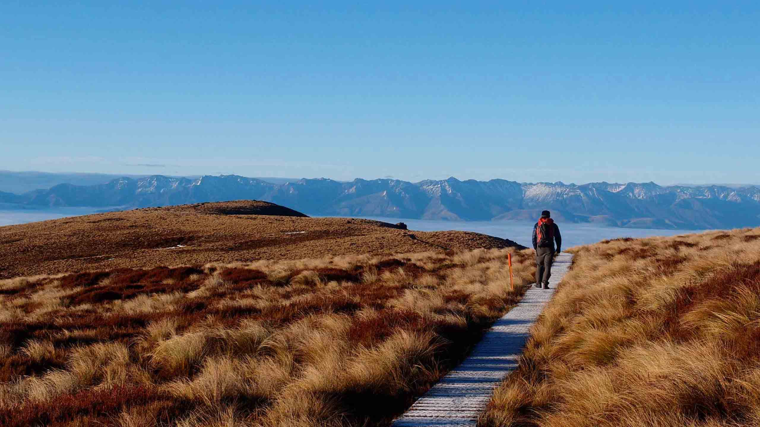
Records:
[[[521,302],[486,332],[470,356],[396,419],[394,427],[476,425],[478,416],[491,400],[493,389],[517,368],[518,357],[530,336],[530,326],[552,298],[571,261],[570,254],[558,255],[549,280],[552,289],[528,289]]]

